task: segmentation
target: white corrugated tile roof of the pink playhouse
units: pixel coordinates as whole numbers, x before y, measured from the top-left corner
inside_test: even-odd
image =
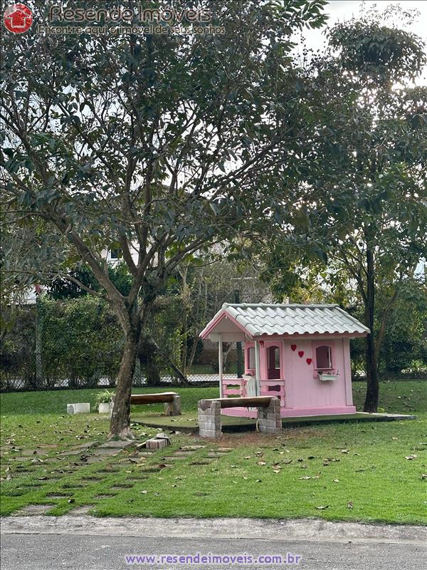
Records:
[[[221,332],[221,321],[248,336],[345,334],[366,336],[369,328],[338,305],[228,304],[201,331],[201,338]],[[228,328],[228,327],[227,327]],[[228,328],[230,330],[230,328]]]

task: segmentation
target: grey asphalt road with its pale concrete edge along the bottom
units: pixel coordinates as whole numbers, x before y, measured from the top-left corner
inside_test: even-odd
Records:
[[[10,517],[9,521],[12,518]],[[343,534],[339,527],[334,532],[333,524],[328,523],[327,528],[319,527],[318,537],[304,539],[300,536],[301,528],[295,533],[292,527],[288,528],[288,526],[281,534],[289,534],[292,538],[285,536],[278,538],[280,529],[276,523],[271,533],[268,533],[268,524],[264,525],[264,538],[260,537],[257,527],[255,527],[253,537],[229,538],[222,536],[224,527],[216,527],[215,524],[208,523],[204,527],[204,522],[190,521],[186,529],[183,529],[180,527],[182,519],[164,524],[159,522],[159,519],[153,521],[139,519],[139,531],[135,531],[133,527],[130,532],[141,536],[127,536],[126,523],[122,522],[120,527],[120,521],[117,519],[117,524],[112,524],[110,530],[105,519],[102,519],[99,530],[93,526],[93,523],[86,525],[83,520],[82,524],[77,522],[68,525],[70,532],[65,534],[67,525],[57,528],[45,527],[43,521],[37,524],[35,518],[27,517],[27,527],[23,522],[24,526],[21,529],[14,527],[14,521],[10,526],[9,521],[6,520],[1,533],[1,570],[122,570],[130,568],[273,570],[284,567],[305,570],[426,569],[427,548],[424,535],[421,530],[415,533],[415,539],[413,539],[410,527],[406,527],[407,532],[404,535],[396,536],[394,532],[384,532],[380,533],[376,539],[371,536],[369,526],[364,525],[364,531],[357,532],[357,536],[351,540],[348,532]],[[47,517],[37,518],[46,519]],[[197,524],[199,527],[196,527]],[[315,534],[310,528],[311,524],[312,522],[307,522],[307,534]],[[367,527],[368,531],[366,531]],[[235,529],[233,534],[248,534],[246,523],[242,524],[241,530],[242,532],[238,532],[238,529]],[[215,533],[214,537],[207,536],[211,531]],[[117,532],[120,536],[117,536]],[[144,536],[144,534],[156,536]],[[162,536],[162,534],[171,536]],[[184,536],[179,536],[179,534]],[[196,536],[191,536],[192,534]],[[273,537],[269,537],[269,534],[273,534]],[[386,534],[389,534],[389,538],[385,536]],[[291,553],[294,560],[300,556],[299,564],[269,563],[268,556],[284,556],[287,553]],[[196,559],[195,564],[189,561],[180,564],[179,556],[195,556],[196,554],[200,558]],[[209,560],[209,555],[228,556],[228,559],[226,559],[226,564],[218,564],[218,559],[204,563],[202,556],[208,556]],[[127,564],[125,556],[155,556],[157,561]],[[159,556],[165,556],[163,562],[160,561]],[[174,556],[176,561],[173,558],[167,559],[166,556]],[[242,556],[242,559],[236,559],[234,564],[227,562],[232,556]],[[245,563],[244,556],[247,558],[252,556],[252,564]],[[266,557],[265,563],[260,556]]]

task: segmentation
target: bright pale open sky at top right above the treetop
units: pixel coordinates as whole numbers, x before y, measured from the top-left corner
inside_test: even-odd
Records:
[[[418,10],[420,12],[418,21],[414,22],[410,27],[402,27],[407,31],[416,33],[417,36],[423,38],[427,43],[427,0],[365,0],[364,2],[360,0],[331,0],[329,4],[325,6],[325,12],[330,16],[329,24],[346,21],[352,19],[353,16],[357,18],[360,15],[362,4],[364,5],[364,10],[369,9],[371,6],[376,6],[380,12],[384,11],[386,6],[390,4],[400,4],[400,6],[406,10]],[[325,41],[322,30],[308,30],[304,35],[307,46],[310,48],[321,48]],[[427,68],[423,76],[419,78],[416,83],[427,85]]]

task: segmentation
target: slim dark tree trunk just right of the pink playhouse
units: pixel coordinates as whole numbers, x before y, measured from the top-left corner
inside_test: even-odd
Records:
[[[367,395],[364,403],[364,412],[378,410],[379,383],[378,359],[376,358],[374,341],[374,311],[375,311],[375,274],[374,252],[367,249],[367,296],[365,304],[364,321],[371,331],[366,338],[365,365],[367,369]]]

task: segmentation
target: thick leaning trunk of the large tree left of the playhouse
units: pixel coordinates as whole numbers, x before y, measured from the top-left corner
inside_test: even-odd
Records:
[[[109,437],[133,437],[130,430],[130,394],[135,373],[138,342],[139,330],[131,327],[126,335],[125,350],[117,378]]]

